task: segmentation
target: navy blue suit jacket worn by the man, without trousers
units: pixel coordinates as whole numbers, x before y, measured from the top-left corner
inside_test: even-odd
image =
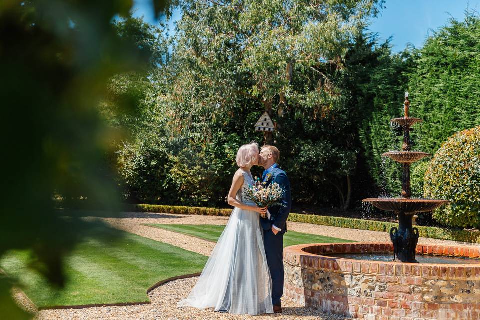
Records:
[[[262,218],[260,216],[260,224],[264,230],[271,229],[271,225],[275,224],[276,227],[280,228],[280,233],[286,232],[286,220],[288,219],[288,214],[291,210],[291,191],[290,191],[290,181],[286,176],[285,171],[276,167],[270,172],[272,177],[266,182],[266,185],[270,185],[273,182],[276,182],[280,187],[285,190],[283,197],[281,198],[281,203],[285,206],[272,206],[268,208],[271,218]]]

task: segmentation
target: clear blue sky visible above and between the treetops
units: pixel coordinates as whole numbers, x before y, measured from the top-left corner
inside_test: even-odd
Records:
[[[480,0],[386,0],[380,16],[371,21],[369,30],[378,33],[380,41],[392,37],[393,51],[401,51],[408,43],[419,48],[432,30],[447,23],[450,17],[462,20],[467,7],[480,11]],[[151,0],[134,0],[134,16],[143,16],[157,23]],[[176,9],[169,23],[181,17]]]

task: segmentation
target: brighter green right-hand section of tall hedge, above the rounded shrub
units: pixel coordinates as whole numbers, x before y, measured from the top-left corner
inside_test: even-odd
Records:
[[[417,52],[408,84],[412,116],[423,119],[413,131],[416,150],[435,153],[455,132],[480,125],[478,34],[480,17],[469,11],[463,21],[450,19]]]

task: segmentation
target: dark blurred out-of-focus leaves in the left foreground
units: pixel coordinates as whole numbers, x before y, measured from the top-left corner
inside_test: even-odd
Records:
[[[165,1],[154,1],[160,12]],[[115,74],[149,63],[113,19],[131,0],[6,0],[0,3],[0,101],[3,168],[0,257],[31,249],[31,266],[62,285],[62,256],[89,224],[61,218],[53,196],[88,198],[115,211],[119,193],[106,162],[122,133],[100,116]],[[125,112],[134,106],[123,103]],[[0,318],[20,317],[0,278]],[[4,312],[9,312],[4,313]]]

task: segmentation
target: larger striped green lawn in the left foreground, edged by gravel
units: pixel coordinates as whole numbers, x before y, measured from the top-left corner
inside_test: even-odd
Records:
[[[117,232],[122,237],[112,240],[107,236]],[[66,259],[69,280],[60,291],[29,270],[27,260],[27,252],[10,252],[1,259],[0,267],[21,279],[23,291],[38,307],[46,307],[148,301],[146,290],[150,286],[170,277],[201,272],[207,257],[107,229],[102,236],[77,246]]]

